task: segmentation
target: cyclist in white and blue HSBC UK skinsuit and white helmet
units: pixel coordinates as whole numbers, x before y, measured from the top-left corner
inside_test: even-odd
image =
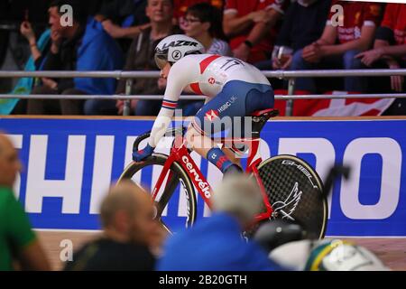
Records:
[[[149,142],[143,150],[133,153],[134,162],[141,162],[152,154],[171,123],[180,93],[191,90],[208,99],[188,128],[188,143],[221,172],[242,172],[241,167],[231,161],[231,151],[220,149],[211,136],[235,128],[221,126],[223,117],[245,117],[256,110],[273,107],[273,90],[268,79],[251,64],[231,57],[202,54],[202,51],[203,45],[186,35],[171,35],[158,43],[155,62],[161,69],[161,78],[167,79],[167,87]]]

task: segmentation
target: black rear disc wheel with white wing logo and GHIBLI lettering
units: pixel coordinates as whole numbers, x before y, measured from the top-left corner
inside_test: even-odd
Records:
[[[324,238],[328,201],[323,183],[309,163],[293,155],[278,155],[258,166],[273,219],[300,224],[308,238]]]

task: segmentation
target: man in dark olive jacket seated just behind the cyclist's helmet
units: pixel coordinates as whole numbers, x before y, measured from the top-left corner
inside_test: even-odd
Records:
[[[153,55],[156,45],[171,34],[180,33],[179,27],[172,24],[173,6],[171,0],[148,0],[146,13],[151,21],[139,36],[134,38],[125,61],[125,70],[158,70]],[[132,95],[163,95],[166,82],[164,79],[134,79]],[[117,94],[125,93],[125,79],[118,83]],[[105,105],[116,106],[122,114],[124,101],[106,102]],[[135,116],[156,116],[161,108],[161,100],[133,100],[131,107]],[[100,101],[99,101],[100,103]]]

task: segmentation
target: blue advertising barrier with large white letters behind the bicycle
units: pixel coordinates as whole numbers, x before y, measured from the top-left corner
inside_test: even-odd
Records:
[[[151,127],[152,120],[1,118],[23,160],[15,193],[33,227],[100,228],[100,201],[131,161],[136,135]],[[262,138],[263,159],[296,154],[322,179],[334,163],[351,166],[350,180],[338,180],[330,196],[328,236],[406,236],[406,119],[274,120]],[[221,180],[213,165],[194,159],[208,182]],[[151,185],[152,172],[138,180]],[[181,226],[185,206],[175,196],[169,222]],[[199,218],[209,215],[201,200],[198,210]]]

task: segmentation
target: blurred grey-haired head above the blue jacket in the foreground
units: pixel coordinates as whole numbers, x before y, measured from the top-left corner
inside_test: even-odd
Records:
[[[263,210],[263,196],[253,177],[242,174],[230,175],[217,187],[214,193],[213,210],[226,212],[241,224],[250,225]]]

